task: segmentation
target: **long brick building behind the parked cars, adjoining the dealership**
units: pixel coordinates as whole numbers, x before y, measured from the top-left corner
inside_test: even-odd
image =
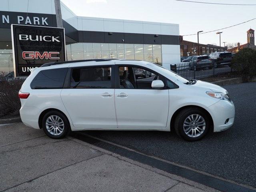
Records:
[[[185,41],[183,36],[180,36],[180,56],[190,56],[198,54],[198,44],[196,42]],[[199,55],[226,51],[226,47],[220,47],[211,44],[199,44]]]

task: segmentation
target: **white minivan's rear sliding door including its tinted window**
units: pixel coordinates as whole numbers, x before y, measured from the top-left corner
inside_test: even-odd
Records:
[[[72,68],[61,98],[74,127],[117,128],[110,66]]]

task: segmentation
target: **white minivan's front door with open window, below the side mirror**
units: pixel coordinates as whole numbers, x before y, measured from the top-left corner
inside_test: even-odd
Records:
[[[152,81],[160,76],[137,66],[118,66],[118,73],[120,88],[115,90],[118,128],[165,128],[168,89],[151,88]]]

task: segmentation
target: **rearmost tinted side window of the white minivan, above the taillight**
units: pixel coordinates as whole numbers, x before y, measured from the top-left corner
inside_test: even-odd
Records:
[[[40,71],[32,80],[32,89],[62,89],[68,68]]]

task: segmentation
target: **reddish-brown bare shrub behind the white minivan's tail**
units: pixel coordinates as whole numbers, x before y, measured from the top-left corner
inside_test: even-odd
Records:
[[[22,78],[6,79],[4,73],[0,72],[0,117],[19,114],[18,92],[23,82]]]

